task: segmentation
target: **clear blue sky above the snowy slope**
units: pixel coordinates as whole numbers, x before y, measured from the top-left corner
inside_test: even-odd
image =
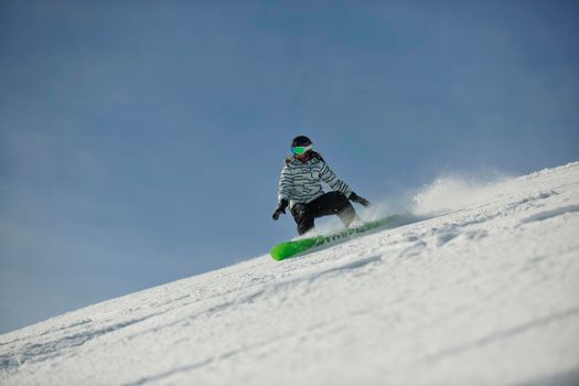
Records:
[[[577,1],[2,1],[0,332],[258,256],[289,141],[371,201],[579,157]]]

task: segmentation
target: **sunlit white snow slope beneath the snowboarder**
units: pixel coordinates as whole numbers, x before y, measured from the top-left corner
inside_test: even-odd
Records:
[[[0,384],[579,384],[579,162],[467,196],[3,334]]]

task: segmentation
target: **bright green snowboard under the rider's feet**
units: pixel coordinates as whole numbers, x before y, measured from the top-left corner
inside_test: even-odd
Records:
[[[396,221],[398,217],[398,215],[392,215],[386,218],[365,223],[361,226],[356,226],[354,228],[346,228],[329,235],[320,235],[315,237],[300,238],[293,242],[281,243],[271,248],[269,254],[271,255],[274,260],[283,260],[290,257],[301,255],[302,253],[311,248],[319,247],[325,244],[331,244],[336,240],[347,239],[351,236],[389,225],[394,223],[394,221]]]

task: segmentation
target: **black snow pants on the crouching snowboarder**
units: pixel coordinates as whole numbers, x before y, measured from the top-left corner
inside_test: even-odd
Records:
[[[300,235],[313,228],[314,218],[332,214],[337,214],[346,227],[356,218],[354,206],[340,192],[328,192],[308,204],[296,204],[291,208]]]

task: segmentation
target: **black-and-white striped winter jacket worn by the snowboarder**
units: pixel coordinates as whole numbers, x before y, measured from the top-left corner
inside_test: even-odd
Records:
[[[324,194],[322,181],[331,190],[342,192],[350,197],[352,193],[350,186],[335,176],[319,153],[314,152],[308,162],[301,162],[294,157],[289,158],[281,170],[278,202],[286,199],[290,202],[290,207],[299,203],[312,202]]]

